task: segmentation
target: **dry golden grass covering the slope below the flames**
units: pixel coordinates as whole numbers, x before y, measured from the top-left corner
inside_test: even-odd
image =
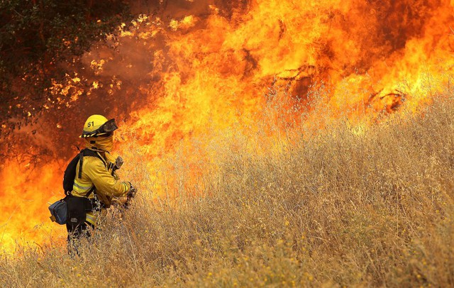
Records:
[[[453,286],[453,109],[292,133],[267,153],[232,135],[195,184],[175,158],[169,198],[150,200],[142,175],[77,259],[0,257],[0,286]]]

